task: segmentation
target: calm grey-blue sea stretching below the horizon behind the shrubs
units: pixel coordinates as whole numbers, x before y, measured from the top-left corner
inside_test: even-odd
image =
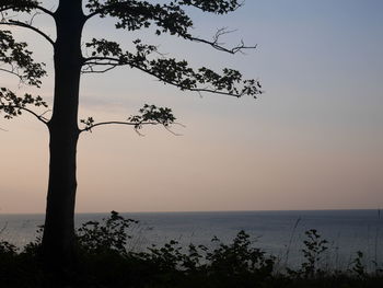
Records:
[[[76,226],[102,221],[108,214],[77,214]],[[326,267],[348,269],[357,252],[370,270],[383,266],[383,215],[381,210],[294,210],[294,211],[207,211],[207,212],[124,212],[138,220],[129,228],[128,250],[146,251],[171,240],[179,245],[202,244],[213,250],[219,243],[230,244],[244,230],[255,247],[277,262],[299,267],[304,262],[302,250],[305,231],[315,229],[327,250],[322,255]],[[18,247],[34,241],[44,215],[0,215],[0,241]],[[211,241],[218,238],[221,242]]]

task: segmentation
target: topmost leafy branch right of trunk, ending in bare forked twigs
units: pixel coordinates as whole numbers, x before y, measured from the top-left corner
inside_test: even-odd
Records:
[[[182,5],[190,5],[205,12],[212,12],[216,14],[227,14],[235,11],[242,4],[243,2],[237,0],[176,0],[169,4],[151,4],[146,1],[134,0],[106,0],[101,3],[98,0],[90,0],[86,4],[86,8],[90,9],[90,14],[86,18],[91,19],[95,15],[104,18],[109,15],[117,19],[115,24],[116,28],[128,31],[136,31],[155,25],[155,34],[158,36],[162,33],[169,33],[192,42],[208,44],[220,51],[236,54],[244,49],[254,49],[256,45],[247,46],[244,42],[241,42],[240,45],[232,48],[222,46],[219,43],[219,38],[231,32],[227,28],[218,30],[212,41],[193,36],[189,30],[193,27],[194,23],[182,9]]]

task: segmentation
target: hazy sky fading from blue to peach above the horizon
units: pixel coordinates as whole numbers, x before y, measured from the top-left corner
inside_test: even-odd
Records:
[[[154,2],[154,1],[152,1]],[[166,1],[161,1],[166,2]],[[54,9],[55,1],[43,0]],[[141,37],[190,66],[239,69],[259,79],[258,100],[182,92],[127,67],[81,79],[82,118],[124,120],[144,103],[171,107],[185,127],[109,126],[82,134],[77,212],[379,209],[383,207],[383,2],[246,0],[228,15],[187,10],[193,33],[257,45],[228,55],[152,31],[115,31],[94,19],[83,39]],[[49,18],[35,24],[55,37]],[[3,27],[1,27],[3,28]],[[53,102],[53,49],[28,42],[49,77],[40,90],[0,74],[0,87]],[[84,50],[85,53],[85,50]],[[0,212],[44,212],[48,133],[28,115],[0,119]]]

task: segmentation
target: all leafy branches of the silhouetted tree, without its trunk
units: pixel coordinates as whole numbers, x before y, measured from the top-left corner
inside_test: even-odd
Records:
[[[1,24],[33,30],[51,44],[55,44],[48,35],[33,25],[33,16],[30,22],[25,23],[12,20],[12,16],[7,16],[9,11],[30,14],[40,11],[54,19],[57,18],[56,12],[51,12],[39,4],[40,1],[38,0],[1,0]],[[219,30],[212,42],[194,37],[189,33],[193,27],[193,21],[184,11],[184,7],[194,7],[205,12],[225,14],[234,11],[241,4],[237,0],[173,0],[163,4],[139,0],[89,0],[85,4],[89,14],[85,15],[84,21],[95,15],[101,18],[111,16],[116,20],[117,28],[127,31],[136,31],[153,25],[156,27],[156,35],[169,33],[185,39],[211,45],[219,50],[235,54],[242,49],[255,47],[246,47],[243,43],[233,49],[221,47],[218,39],[219,36],[228,33],[225,30]],[[83,72],[105,72],[117,66],[129,66],[181,90],[196,91],[198,93],[209,92],[236,97],[243,95],[256,97],[263,93],[259,81],[254,79],[244,80],[237,70],[224,68],[222,72],[216,72],[206,67],[193,69],[186,60],[166,58],[159,53],[156,46],[143,44],[141,39],[134,41],[134,45],[136,50],[124,51],[118,43],[104,38],[93,38],[85,44],[92,50],[92,56],[82,59]],[[10,31],[0,31],[0,62],[5,65],[0,67],[0,71],[12,73],[21,82],[39,88],[42,84],[40,79],[46,76],[45,65],[35,62],[32,56],[32,51],[27,49],[26,43],[16,42]],[[100,69],[100,67],[102,68]],[[46,118],[27,107],[32,105],[46,106],[46,103],[39,96],[33,97],[31,94],[25,94],[23,97],[18,97],[13,92],[2,90],[0,105],[0,112],[5,113],[5,118],[20,115],[24,110],[34,114],[39,120],[47,123]],[[164,127],[169,127],[174,120],[175,117],[170,108],[146,105],[140,111],[140,115],[130,116],[128,122],[114,122],[114,124],[135,125],[137,130],[143,124],[161,124]],[[97,125],[106,124],[95,124],[92,117],[82,119],[81,123],[85,125],[84,130],[91,130]]]

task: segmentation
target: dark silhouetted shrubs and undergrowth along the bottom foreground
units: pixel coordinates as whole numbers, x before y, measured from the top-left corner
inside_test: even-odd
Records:
[[[39,261],[40,238],[19,251],[0,241],[1,287],[383,287],[382,263],[367,272],[363,254],[356,253],[347,270],[322,265],[327,241],[316,230],[305,232],[303,263],[281,267],[272,255],[254,247],[249,235],[240,231],[231,244],[217,238],[214,249],[177,241],[149,247],[126,249],[128,229],[137,221],[112,211],[102,222],[90,221],[77,230],[77,263],[71,269],[47,272]]]

